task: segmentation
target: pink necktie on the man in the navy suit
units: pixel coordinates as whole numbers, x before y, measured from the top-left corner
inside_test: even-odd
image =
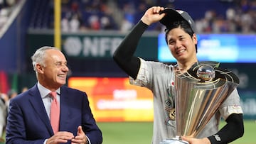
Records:
[[[53,96],[53,101],[50,105],[50,124],[53,128],[53,132],[58,132],[60,122],[60,105],[56,99],[56,92],[50,92],[50,96]]]

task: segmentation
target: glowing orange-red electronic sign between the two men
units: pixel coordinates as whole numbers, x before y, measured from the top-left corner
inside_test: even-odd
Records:
[[[68,86],[86,92],[96,121],[153,121],[153,94],[128,78],[70,77]]]

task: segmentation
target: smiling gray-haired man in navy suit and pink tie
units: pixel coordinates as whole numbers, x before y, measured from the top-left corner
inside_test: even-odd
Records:
[[[31,57],[38,82],[11,99],[8,143],[102,143],[85,92],[63,86],[67,61],[58,48],[42,47]]]

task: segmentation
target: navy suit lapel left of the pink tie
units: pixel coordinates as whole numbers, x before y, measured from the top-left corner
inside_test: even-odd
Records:
[[[53,130],[51,128],[50,120],[46,113],[46,108],[43,105],[41,95],[40,95],[38,87],[36,85],[29,91],[29,95],[30,95],[29,101],[30,101],[31,105],[33,106],[34,111],[36,111],[38,116],[41,118],[43,123],[46,125],[46,128],[48,129],[48,132],[50,133],[50,135],[53,135]]]

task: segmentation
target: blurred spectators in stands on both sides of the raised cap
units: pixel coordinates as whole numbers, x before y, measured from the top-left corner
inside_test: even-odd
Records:
[[[216,0],[217,1],[217,0]],[[149,6],[175,9],[170,0],[64,0],[62,1],[63,31],[129,31]],[[207,1],[205,1],[207,3]],[[256,1],[233,0],[225,13],[214,9],[204,11],[204,17],[195,19],[198,33],[255,33]],[[161,31],[156,23],[149,31]]]

